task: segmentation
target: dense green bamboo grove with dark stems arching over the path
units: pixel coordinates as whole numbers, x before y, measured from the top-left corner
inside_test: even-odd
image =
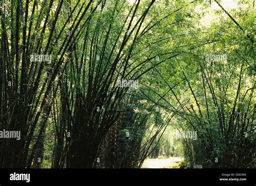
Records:
[[[168,126],[188,167],[255,167],[254,3],[215,3],[2,0],[0,167],[140,168]]]

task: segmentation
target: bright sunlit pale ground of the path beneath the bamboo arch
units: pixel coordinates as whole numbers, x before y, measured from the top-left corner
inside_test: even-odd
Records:
[[[165,159],[146,159],[142,165],[142,168],[172,168],[173,164],[182,161],[183,158],[169,157]]]

